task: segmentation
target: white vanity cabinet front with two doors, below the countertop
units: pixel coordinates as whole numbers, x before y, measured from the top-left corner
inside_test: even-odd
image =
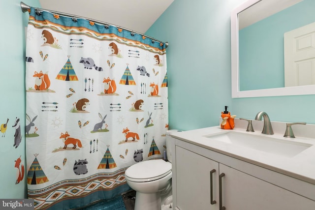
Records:
[[[174,209],[220,210],[220,199],[221,210],[315,209],[315,199],[307,198],[312,195],[313,186],[306,187],[310,193],[305,195],[294,192],[295,188],[298,191],[299,187],[303,188],[301,184],[308,186],[307,182],[300,183],[300,180],[182,140],[176,139],[175,144]],[[285,183],[291,179],[290,183]]]

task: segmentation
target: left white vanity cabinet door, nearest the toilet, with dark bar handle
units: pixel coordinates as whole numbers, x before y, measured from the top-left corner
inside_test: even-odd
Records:
[[[210,189],[211,171],[212,192]],[[218,177],[218,162],[176,146],[177,208],[180,210],[218,210]],[[211,193],[216,204],[211,204]]]

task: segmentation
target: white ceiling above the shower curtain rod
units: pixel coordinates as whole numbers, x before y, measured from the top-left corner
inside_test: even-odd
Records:
[[[43,9],[85,17],[139,33],[145,33],[173,1],[39,0]]]

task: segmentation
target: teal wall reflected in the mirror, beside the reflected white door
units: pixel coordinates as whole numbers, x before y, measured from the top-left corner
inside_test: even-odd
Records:
[[[240,90],[284,87],[284,33],[315,22],[314,10],[303,0],[239,31]]]

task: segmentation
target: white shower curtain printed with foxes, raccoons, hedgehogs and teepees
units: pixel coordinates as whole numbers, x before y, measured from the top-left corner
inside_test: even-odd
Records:
[[[129,190],[126,169],[166,150],[165,44],[29,12],[26,175],[35,209],[79,208]]]

